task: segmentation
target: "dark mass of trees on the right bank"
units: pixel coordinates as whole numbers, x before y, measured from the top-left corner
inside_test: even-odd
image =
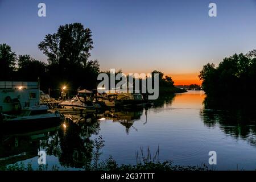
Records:
[[[216,67],[206,64],[199,75],[207,97],[205,107],[255,109],[256,50],[225,57]]]

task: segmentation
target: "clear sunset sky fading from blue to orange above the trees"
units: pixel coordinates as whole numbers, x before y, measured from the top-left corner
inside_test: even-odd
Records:
[[[46,3],[46,17],[38,3]],[[217,17],[208,16],[209,3]],[[199,71],[234,53],[256,48],[256,1],[13,1],[0,0],[0,43],[18,55],[47,62],[38,49],[60,25],[80,22],[92,30],[91,59],[101,70],[158,70],[176,85],[200,84]]]

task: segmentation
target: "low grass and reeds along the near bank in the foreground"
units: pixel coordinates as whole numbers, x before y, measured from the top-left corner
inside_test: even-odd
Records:
[[[95,160],[95,159],[94,159]],[[159,162],[159,147],[155,154],[151,155],[150,149],[147,148],[147,154],[144,155],[143,148],[136,153],[137,164],[121,164],[119,165],[110,156],[105,161],[91,162],[89,165],[84,167],[86,171],[208,171],[208,167],[203,164],[201,166],[178,166],[174,165],[171,161]],[[52,166],[51,169],[48,165],[39,165],[38,168],[33,169],[32,164],[28,163],[25,165],[23,162],[15,163],[0,167],[0,171],[59,171],[59,167]]]

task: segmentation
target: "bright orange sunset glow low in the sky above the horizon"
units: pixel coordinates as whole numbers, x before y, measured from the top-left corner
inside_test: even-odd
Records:
[[[199,80],[199,73],[184,73],[184,74],[168,74],[174,81],[174,85],[201,85],[202,81]]]

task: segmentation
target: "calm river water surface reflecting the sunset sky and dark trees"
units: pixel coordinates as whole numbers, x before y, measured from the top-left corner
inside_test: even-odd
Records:
[[[113,156],[119,164],[135,164],[141,147],[153,154],[159,146],[160,161],[197,166],[208,164],[209,151],[216,151],[215,169],[254,170],[256,119],[205,110],[204,97],[201,91],[189,91],[156,101],[147,110],[65,115],[69,119],[60,126],[2,134],[0,164],[24,162],[37,168],[37,153],[44,150],[49,168],[81,169],[93,160],[96,143],[104,142],[100,159]]]

